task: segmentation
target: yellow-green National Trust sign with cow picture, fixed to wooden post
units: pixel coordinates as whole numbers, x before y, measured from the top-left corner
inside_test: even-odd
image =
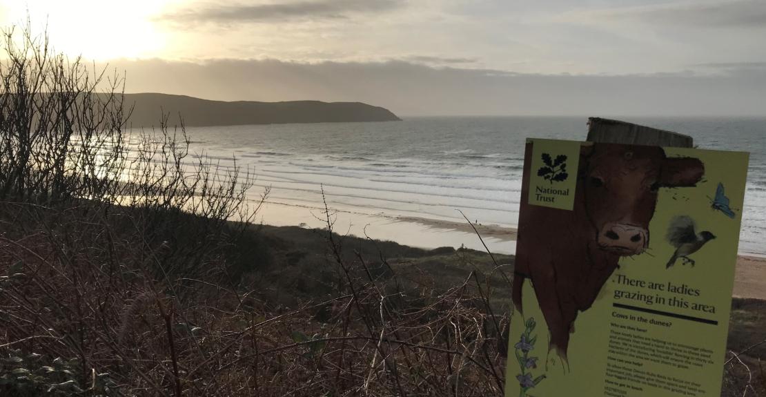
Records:
[[[506,396],[719,396],[747,169],[530,139]]]

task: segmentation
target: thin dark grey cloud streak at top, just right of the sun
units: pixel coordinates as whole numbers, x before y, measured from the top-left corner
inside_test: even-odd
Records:
[[[159,20],[229,24],[301,18],[349,18],[349,15],[356,13],[388,11],[402,4],[402,0],[303,0],[252,5],[218,5],[199,9],[186,8],[162,15]]]

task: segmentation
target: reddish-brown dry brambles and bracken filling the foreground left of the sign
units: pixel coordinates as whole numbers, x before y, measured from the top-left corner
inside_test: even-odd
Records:
[[[473,277],[409,296],[385,265],[331,253],[340,259],[316,274],[336,296],[272,305],[250,290],[262,283],[234,277],[237,244],[186,254],[196,241],[145,241],[132,208],[103,215],[91,205],[5,207],[4,225],[27,225],[0,238],[0,261],[11,264],[2,284],[5,392],[499,394],[506,321],[486,313]],[[198,266],[182,268],[178,251]]]

